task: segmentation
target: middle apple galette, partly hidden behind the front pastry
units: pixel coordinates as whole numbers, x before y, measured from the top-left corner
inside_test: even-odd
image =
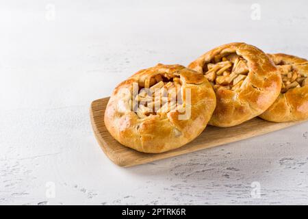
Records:
[[[216,92],[209,125],[231,127],[262,114],[279,95],[281,76],[268,56],[244,42],[233,42],[198,57],[188,68],[203,73]]]

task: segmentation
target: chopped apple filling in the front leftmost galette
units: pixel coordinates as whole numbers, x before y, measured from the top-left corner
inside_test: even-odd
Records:
[[[181,86],[179,75],[166,73],[138,81],[133,86],[131,111],[139,118],[174,112],[183,104]]]

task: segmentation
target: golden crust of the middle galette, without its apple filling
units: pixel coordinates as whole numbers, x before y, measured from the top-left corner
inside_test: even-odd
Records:
[[[263,51],[244,42],[216,47],[198,57],[188,68],[205,74],[205,65],[213,62],[216,55],[231,53],[246,62],[248,73],[242,86],[236,90],[224,86],[215,89],[217,105],[209,125],[231,127],[259,116],[274,103],[281,90],[281,76],[277,67]]]

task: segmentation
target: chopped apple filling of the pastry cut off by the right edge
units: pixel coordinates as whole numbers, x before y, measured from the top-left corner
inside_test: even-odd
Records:
[[[295,69],[292,64],[287,64],[281,60],[276,65],[281,73],[281,93],[284,94],[292,88],[301,88],[308,84],[308,75]]]

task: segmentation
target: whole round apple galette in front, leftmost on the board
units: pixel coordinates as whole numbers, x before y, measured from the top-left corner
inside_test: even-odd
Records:
[[[178,64],[157,64],[115,88],[104,120],[121,144],[161,153],[194,140],[215,106],[214,90],[201,73]]]

